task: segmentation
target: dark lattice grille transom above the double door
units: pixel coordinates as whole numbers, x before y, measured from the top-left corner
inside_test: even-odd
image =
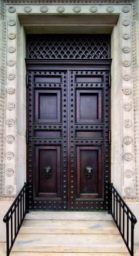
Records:
[[[28,35],[27,58],[110,58],[109,35]]]

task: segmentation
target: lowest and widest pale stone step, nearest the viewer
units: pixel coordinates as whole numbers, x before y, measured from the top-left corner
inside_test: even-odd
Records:
[[[12,252],[128,252],[122,237],[103,234],[18,234]]]

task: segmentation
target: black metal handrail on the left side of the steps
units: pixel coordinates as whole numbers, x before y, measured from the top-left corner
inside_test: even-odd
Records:
[[[3,221],[6,223],[6,255],[9,256],[15,239],[18,235],[22,222],[29,212],[28,200],[29,200],[29,186],[24,184],[21,191],[11,204],[10,209],[6,212]]]

